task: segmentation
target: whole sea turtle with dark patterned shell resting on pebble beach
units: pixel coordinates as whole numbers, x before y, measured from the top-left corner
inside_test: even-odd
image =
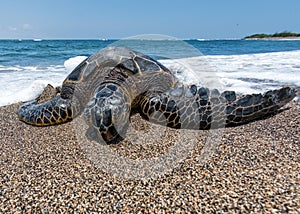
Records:
[[[292,100],[295,89],[236,97],[234,91],[185,86],[156,60],[120,47],[108,47],[78,65],[63,82],[61,93],[18,110],[20,120],[48,126],[83,113],[106,143],[125,136],[133,113],[177,129],[210,129],[239,125],[271,113]]]

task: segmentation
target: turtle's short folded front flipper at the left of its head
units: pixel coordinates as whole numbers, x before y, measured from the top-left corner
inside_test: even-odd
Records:
[[[49,126],[71,121],[75,112],[73,103],[60,96],[41,104],[36,100],[27,102],[18,109],[19,119],[35,126]]]

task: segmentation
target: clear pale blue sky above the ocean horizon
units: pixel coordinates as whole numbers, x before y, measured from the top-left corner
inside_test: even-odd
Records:
[[[242,38],[299,20],[300,0],[3,0],[0,38]]]

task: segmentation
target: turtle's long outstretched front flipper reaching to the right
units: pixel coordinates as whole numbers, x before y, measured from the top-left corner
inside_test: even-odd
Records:
[[[290,87],[237,99],[233,91],[220,93],[216,89],[178,85],[163,94],[145,95],[139,112],[143,118],[171,128],[222,128],[276,113],[295,96]]]

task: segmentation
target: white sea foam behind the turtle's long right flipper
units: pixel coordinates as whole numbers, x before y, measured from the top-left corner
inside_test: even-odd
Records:
[[[247,94],[261,93],[284,85],[299,87],[299,59],[300,51],[289,51],[199,56],[161,62],[184,83]],[[181,63],[177,65],[178,61]],[[189,69],[182,68],[182,64],[187,64]]]

